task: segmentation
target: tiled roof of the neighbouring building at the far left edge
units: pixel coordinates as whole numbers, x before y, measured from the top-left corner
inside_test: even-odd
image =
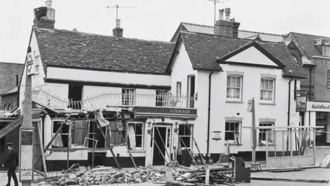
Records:
[[[16,87],[16,75],[19,75],[19,82],[23,74],[24,64],[1,63],[0,62],[0,94]]]

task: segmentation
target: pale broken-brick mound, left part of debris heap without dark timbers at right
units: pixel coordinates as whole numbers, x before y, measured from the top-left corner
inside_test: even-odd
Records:
[[[165,172],[157,169],[139,167],[133,172],[115,169],[113,167],[78,167],[70,171],[71,178],[61,178],[52,185],[107,185],[114,183],[145,183],[151,181],[165,181]],[[172,173],[179,176],[178,173]]]

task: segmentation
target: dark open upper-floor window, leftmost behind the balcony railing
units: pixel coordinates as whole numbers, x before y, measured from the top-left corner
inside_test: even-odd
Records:
[[[69,85],[69,108],[81,110],[81,100],[83,99],[83,85]]]

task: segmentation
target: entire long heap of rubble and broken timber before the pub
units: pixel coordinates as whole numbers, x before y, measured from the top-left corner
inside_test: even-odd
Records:
[[[179,165],[181,167],[181,165]],[[182,168],[182,167],[181,167]],[[111,185],[120,183],[162,183],[166,185],[233,185],[234,172],[224,167],[192,170],[184,167],[182,171],[174,169],[156,169],[138,167],[132,171],[113,167],[95,168],[79,166],[76,169],[63,170],[69,176],[58,176],[58,180],[48,181],[45,185]],[[43,184],[44,185],[44,184]]]

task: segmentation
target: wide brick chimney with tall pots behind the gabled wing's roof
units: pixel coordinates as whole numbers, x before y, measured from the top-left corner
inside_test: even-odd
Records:
[[[225,12],[225,20],[223,20],[223,12]],[[230,19],[230,8],[219,10],[219,20],[215,22],[214,34],[225,37],[239,37],[239,25],[235,19]]]

